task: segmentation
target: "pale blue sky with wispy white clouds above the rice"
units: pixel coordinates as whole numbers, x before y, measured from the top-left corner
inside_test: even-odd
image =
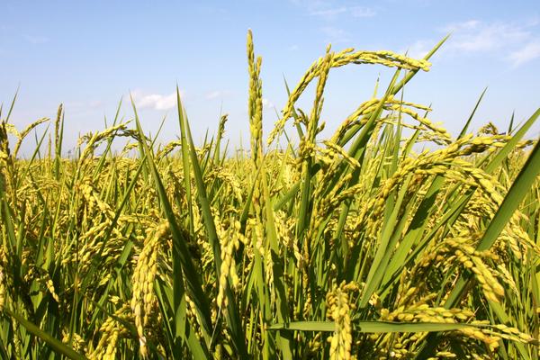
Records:
[[[0,103],[5,109],[19,89],[11,122],[21,130],[54,119],[63,103],[65,148],[103,130],[105,119],[110,124],[121,98],[123,119],[132,118],[130,96],[144,130],[155,134],[165,117],[159,139],[176,139],[176,85],[195,139],[215,133],[228,113],[226,137],[235,147],[248,144],[248,29],[263,58],[266,134],[287,99],[284,79],[296,85],[329,43],[421,58],[451,33],[404,99],[430,104],[430,119],[455,135],[486,86],[472,130],[488,121],[506,130],[513,112],[525,121],[540,107],[538,0],[1,0],[0,14]],[[327,133],[372,97],[377,78],[385,88],[391,76],[373,65],[333,69],[322,114]],[[308,91],[299,105],[309,112],[311,101]],[[539,134],[536,124],[528,136]]]

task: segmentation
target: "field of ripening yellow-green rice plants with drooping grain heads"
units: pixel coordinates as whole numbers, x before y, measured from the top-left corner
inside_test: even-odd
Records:
[[[227,116],[193,144],[179,93],[178,140],[133,105],[72,157],[61,105],[25,130],[5,106],[0,358],[538,359],[540,110],[473,133],[475,108],[457,137],[430,121],[402,90],[444,41],[423,59],[329,47],[263,134],[249,31],[234,155]],[[355,65],[395,73],[322,139],[327,79]]]

